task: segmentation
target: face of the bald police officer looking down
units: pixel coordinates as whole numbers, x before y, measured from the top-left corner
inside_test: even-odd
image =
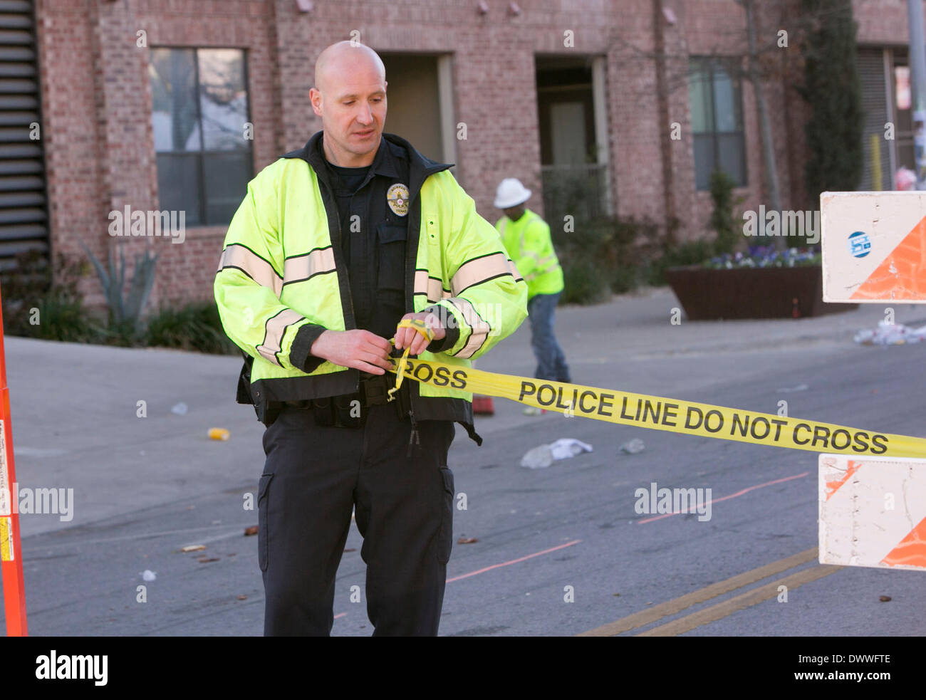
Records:
[[[386,121],[386,84],[375,65],[358,56],[333,64],[309,92],[325,131],[326,155],[334,156],[335,165],[360,168],[373,162]]]

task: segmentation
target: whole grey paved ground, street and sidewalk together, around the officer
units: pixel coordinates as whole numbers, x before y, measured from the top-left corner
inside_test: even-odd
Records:
[[[573,381],[767,413],[785,400],[790,416],[926,436],[926,345],[852,339],[883,306],[672,325],[674,306],[660,289],[559,309]],[[926,322],[918,306],[895,314]],[[479,369],[532,375],[529,341],[521,328]],[[262,427],[233,403],[240,360],[16,338],[6,355],[19,484],[73,489],[70,519],[20,517],[31,635],[261,634],[257,537],[244,535],[257,510],[244,505]],[[172,413],[181,402],[185,414]],[[455,511],[443,635],[926,633],[921,572],[817,563],[815,454],[520,408],[495,401],[477,423],[482,447],[457,428],[449,461],[466,509]],[[209,440],[212,427],[231,439]],[[557,438],[594,452],[519,466]],[[644,451],[620,452],[632,438]],[[653,482],[711,489],[710,519],[635,512],[636,489]],[[335,635],[371,632],[360,544],[352,527]]]

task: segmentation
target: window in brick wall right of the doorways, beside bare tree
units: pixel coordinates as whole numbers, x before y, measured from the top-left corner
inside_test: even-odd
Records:
[[[726,172],[737,185],[746,184],[743,135],[743,98],[740,81],[729,64],[692,58],[688,71],[688,99],[694,132],[694,185],[710,188],[715,169]]]

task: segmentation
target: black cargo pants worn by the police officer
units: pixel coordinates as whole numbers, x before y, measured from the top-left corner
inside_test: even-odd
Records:
[[[357,429],[286,407],[264,433],[257,491],[265,635],[329,635],[332,605],[350,611],[335,574],[356,506],[367,564],[367,615],[380,635],[436,635],[453,530],[454,424],[411,423],[394,404],[364,407]]]

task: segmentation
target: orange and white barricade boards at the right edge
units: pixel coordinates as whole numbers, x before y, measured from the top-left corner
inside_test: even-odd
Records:
[[[926,303],[926,192],[826,192],[820,221],[824,301]],[[926,570],[926,455],[819,472],[820,563]]]

